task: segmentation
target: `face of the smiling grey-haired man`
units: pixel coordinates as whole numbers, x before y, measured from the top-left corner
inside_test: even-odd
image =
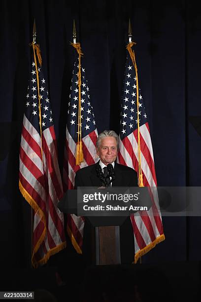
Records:
[[[117,141],[113,136],[105,137],[96,150],[103,164],[112,163],[117,158]]]

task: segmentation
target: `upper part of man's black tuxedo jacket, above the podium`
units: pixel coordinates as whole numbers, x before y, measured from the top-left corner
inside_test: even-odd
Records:
[[[77,187],[101,187],[102,184],[96,172],[97,165],[99,165],[99,162],[77,171],[74,189],[77,189]],[[138,186],[137,173],[130,167],[115,163],[114,177],[115,179],[112,182],[112,187]]]

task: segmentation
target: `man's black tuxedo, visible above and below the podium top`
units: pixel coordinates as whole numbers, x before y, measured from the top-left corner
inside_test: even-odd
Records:
[[[74,189],[77,187],[101,187],[101,181],[97,176],[96,167],[99,162],[82,168],[75,175]],[[114,165],[115,180],[112,187],[137,187],[137,173],[134,169],[115,163]],[[91,238],[94,236],[94,229],[90,223],[85,220],[83,235],[83,256],[85,261],[90,264],[92,259]],[[128,217],[120,226],[120,249],[121,263],[131,264],[134,261],[134,232],[131,219]]]

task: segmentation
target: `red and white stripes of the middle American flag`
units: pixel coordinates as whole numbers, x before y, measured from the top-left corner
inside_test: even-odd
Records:
[[[66,129],[66,146],[63,169],[63,183],[65,191],[67,189],[73,189],[75,173],[79,169],[95,164],[99,160],[96,154],[97,137],[98,132],[96,129],[92,131],[89,135],[82,138],[84,162],[82,162],[81,165],[76,165],[76,144],[72,139],[71,135],[69,134],[68,129]],[[83,229],[83,217],[78,217],[74,214],[67,214],[67,232],[75,250],[79,254],[82,253]]]

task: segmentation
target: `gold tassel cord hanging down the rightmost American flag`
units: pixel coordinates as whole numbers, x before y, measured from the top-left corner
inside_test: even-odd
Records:
[[[134,69],[135,69],[135,77],[136,77],[136,105],[137,105],[137,144],[138,144],[138,175],[139,175],[139,180],[138,180],[138,186],[139,187],[144,187],[143,185],[143,175],[142,175],[142,168],[141,168],[141,149],[140,149],[140,132],[139,132],[139,87],[138,87],[138,76],[137,76],[137,65],[135,61],[135,55],[134,55],[134,50],[132,49],[132,46],[135,45],[135,42],[131,42],[127,45],[127,50],[130,54],[130,57],[132,59]]]

